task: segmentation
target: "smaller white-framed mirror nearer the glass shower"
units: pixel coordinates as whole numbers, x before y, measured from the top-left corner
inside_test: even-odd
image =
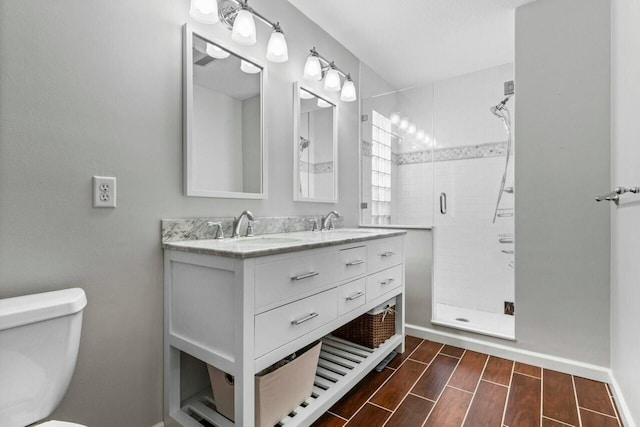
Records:
[[[338,106],[294,85],[293,200],[338,202]]]

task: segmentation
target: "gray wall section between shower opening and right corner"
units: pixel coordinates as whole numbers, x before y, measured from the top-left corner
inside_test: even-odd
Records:
[[[609,366],[609,1],[516,10],[518,345]]]

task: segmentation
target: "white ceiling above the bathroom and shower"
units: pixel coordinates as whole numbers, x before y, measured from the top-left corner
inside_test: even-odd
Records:
[[[534,0],[289,0],[396,89],[513,62]]]

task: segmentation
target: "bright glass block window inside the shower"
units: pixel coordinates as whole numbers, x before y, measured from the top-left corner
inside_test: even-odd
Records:
[[[391,121],[373,111],[371,135],[371,215],[373,224],[391,224]]]

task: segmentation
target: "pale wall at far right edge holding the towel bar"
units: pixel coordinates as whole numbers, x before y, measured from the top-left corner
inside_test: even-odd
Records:
[[[611,154],[612,184],[640,185],[640,1],[611,2]],[[622,196],[611,215],[611,369],[620,390],[616,403],[626,403],[636,425],[640,422],[640,202]],[[606,208],[605,208],[606,209]],[[627,426],[633,425],[626,420]]]

